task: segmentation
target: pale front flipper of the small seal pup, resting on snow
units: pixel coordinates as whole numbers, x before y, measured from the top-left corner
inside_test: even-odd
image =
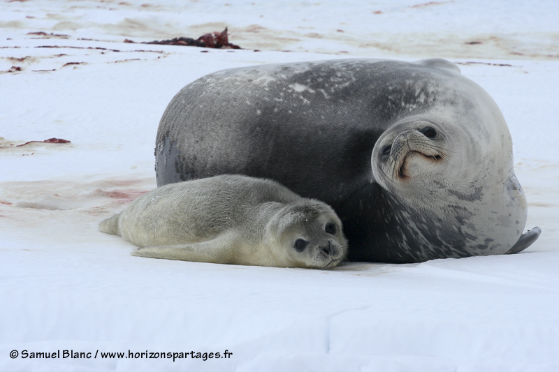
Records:
[[[233,256],[232,234],[222,235],[198,243],[177,244],[174,246],[147,246],[133,251],[138,257],[164,258],[191,262],[229,264]]]

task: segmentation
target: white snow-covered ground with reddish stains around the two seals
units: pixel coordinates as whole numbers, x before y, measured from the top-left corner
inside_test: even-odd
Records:
[[[2,1],[0,370],[559,370],[558,15],[553,0]],[[246,50],[122,43],[226,26]],[[185,84],[347,57],[446,57],[484,87],[509,124],[538,241],[518,255],[321,271],[135,258],[99,232],[155,187],[157,125]],[[71,143],[15,147],[51,137]]]

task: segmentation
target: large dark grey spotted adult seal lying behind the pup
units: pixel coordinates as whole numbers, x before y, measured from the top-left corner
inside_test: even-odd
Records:
[[[340,59],[218,71],[164,112],[158,185],[275,179],[340,216],[349,259],[516,253],[527,205],[493,99],[444,59]]]

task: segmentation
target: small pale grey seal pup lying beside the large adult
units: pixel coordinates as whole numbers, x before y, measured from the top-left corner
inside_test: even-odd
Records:
[[[161,186],[99,230],[140,246],[132,255],[169,260],[328,269],[347,251],[327,204],[240,175]]]

